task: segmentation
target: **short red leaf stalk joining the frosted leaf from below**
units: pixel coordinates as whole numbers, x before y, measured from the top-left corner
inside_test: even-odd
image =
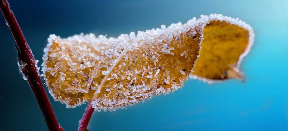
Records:
[[[82,119],[79,121],[78,131],[86,131],[87,130],[87,126],[88,126],[88,123],[91,119],[93,112],[94,112],[94,108],[92,107],[91,102],[89,102],[86,109],[85,109],[85,112],[84,112]]]

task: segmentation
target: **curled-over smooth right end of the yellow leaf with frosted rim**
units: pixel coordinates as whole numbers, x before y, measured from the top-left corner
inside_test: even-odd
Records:
[[[190,78],[204,82],[221,82],[231,78],[242,79],[240,63],[254,42],[253,29],[242,21],[229,17],[218,19],[217,15],[201,16],[199,29],[204,40],[200,57]],[[201,31],[202,30],[202,31]]]

